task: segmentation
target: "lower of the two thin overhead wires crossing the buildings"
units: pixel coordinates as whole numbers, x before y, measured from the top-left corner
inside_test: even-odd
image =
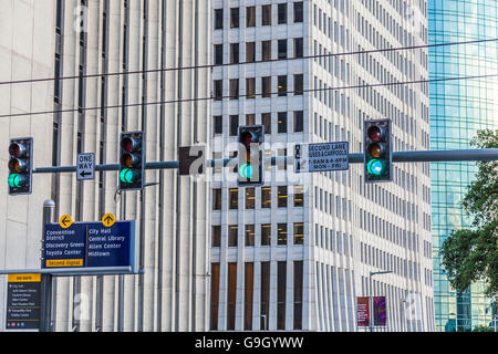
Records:
[[[268,95],[287,95],[294,93],[308,93],[308,92],[318,92],[318,91],[338,91],[338,90],[354,90],[354,88],[365,88],[365,87],[378,87],[378,86],[395,86],[395,85],[411,85],[411,84],[422,84],[422,83],[432,83],[432,82],[444,82],[444,81],[457,81],[457,80],[475,80],[475,79],[487,79],[487,77],[498,77],[498,74],[488,74],[488,75],[474,75],[474,76],[457,76],[457,77],[439,77],[439,79],[428,79],[428,80],[415,80],[415,81],[404,81],[404,82],[390,82],[390,83],[377,83],[377,84],[363,84],[363,85],[353,85],[353,86],[339,86],[339,87],[321,87],[321,88],[307,88],[300,91],[286,91],[286,92],[272,92],[267,93]],[[129,103],[129,104],[118,104],[111,106],[96,106],[96,107],[82,107],[82,108],[71,108],[71,110],[55,110],[55,111],[41,111],[41,112],[28,112],[28,113],[15,113],[15,114],[3,114],[0,115],[0,118],[8,117],[19,117],[27,115],[43,115],[43,114],[54,114],[54,113],[72,113],[79,111],[97,111],[97,110],[114,110],[122,107],[136,107],[142,105],[157,105],[157,104],[173,104],[173,103],[187,103],[187,102],[197,102],[197,101],[221,101],[221,100],[239,100],[241,97],[253,97],[253,96],[262,96],[262,93],[255,95],[237,95],[236,98],[232,96],[220,96],[220,97],[194,97],[194,98],[181,98],[181,100],[170,100],[170,101],[155,101],[155,102],[141,102],[141,103]]]

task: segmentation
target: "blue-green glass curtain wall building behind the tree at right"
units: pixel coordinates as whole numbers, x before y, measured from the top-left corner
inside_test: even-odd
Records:
[[[428,1],[429,44],[498,38],[498,1]],[[496,42],[429,49],[429,79],[496,74]],[[470,148],[476,132],[498,128],[496,77],[432,82],[432,149]],[[432,164],[433,256],[436,326],[438,331],[471,331],[488,325],[489,299],[477,283],[465,292],[452,289],[440,264],[439,250],[452,230],[470,219],[460,206],[477,171],[475,163]]]

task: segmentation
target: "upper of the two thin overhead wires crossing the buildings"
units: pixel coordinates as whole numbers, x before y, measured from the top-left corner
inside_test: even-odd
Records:
[[[487,40],[475,40],[475,41],[461,41],[461,42],[447,42],[447,43],[423,44],[423,45],[412,45],[412,46],[373,49],[373,50],[366,50],[366,51],[354,51],[354,52],[344,52],[344,53],[315,54],[315,55],[305,55],[305,56],[299,56],[299,58],[293,56],[293,58],[260,60],[260,61],[253,61],[253,62],[206,64],[206,65],[165,67],[165,69],[149,69],[149,70],[136,70],[136,71],[101,73],[101,74],[85,74],[85,75],[73,75],[73,76],[62,76],[62,77],[44,77],[44,79],[29,79],[29,80],[27,79],[27,80],[15,80],[15,81],[3,81],[3,82],[0,82],[0,85],[9,85],[9,84],[14,85],[14,84],[25,84],[25,83],[35,83],[35,82],[45,82],[45,81],[94,79],[94,77],[134,75],[134,74],[149,74],[149,73],[169,72],[169,71],[212,69],[212,67],[222,67],[222,66],[231,66],[231,65],[246,65],[246,64],[272,63],[272,62],[280,62],[280,61],[292,61],[292,60],[320,59],[320,58],[329,58],[329,56],[332,58],[332,56],[344,56],[344,55],[356,55],[356,54],[370,54],[370,53],[416,50],[416,49],[437,48],[437,46],[447,46],[447,45],[476,44],[476,43],[496,42],[496,41],[498,41],[498,38],[487,39]]]

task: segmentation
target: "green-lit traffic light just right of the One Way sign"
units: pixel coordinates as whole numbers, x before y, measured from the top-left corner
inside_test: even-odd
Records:
[[[120,190],[139,190],[145,179],[144,132],[121,133]]]

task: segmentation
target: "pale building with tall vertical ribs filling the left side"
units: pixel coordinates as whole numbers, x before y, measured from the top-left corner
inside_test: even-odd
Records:
[[[79,153],[117,164],[120,134],[128,131],[145,132],[147,162],[177,160],[178,146],[208,143],[210,102],[193,98],[210,95],[210,71],[160,69],[209,64],[209,1],[0,0],[0,8],[6,174],[12,137],[33,137],[35,167],[74,166]],[[46,77],[55,80],[3,84]],[[144,273],[124,275],[122,289],[118,275],[54,279],[55,331],[208,329],[206,183],[151,169],[151,186],[120,194],[115,170],[84,183],[74,173],[35,174],[32,195],[8,196],[4,177],[0,269],[40,267],[45,199],[56,202],[58,219],[100,221],[112,212],[139,223]],[[2,302],[2,331],[4,311]]]

